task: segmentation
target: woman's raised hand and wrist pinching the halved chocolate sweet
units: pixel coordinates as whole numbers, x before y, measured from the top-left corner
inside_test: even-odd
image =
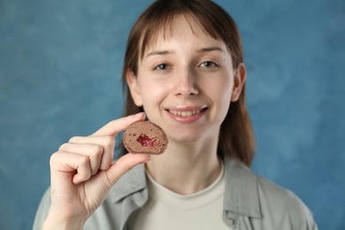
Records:
[[[86,137],[76,136],[50,157],[51,206],[43,229],[81,229],[111,187],[147,154],[128,153],[112,164],[115,136],[144,113],[113,120]]]

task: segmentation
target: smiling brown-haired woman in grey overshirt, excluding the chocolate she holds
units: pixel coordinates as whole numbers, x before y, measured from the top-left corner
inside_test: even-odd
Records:
[[[296,196],[249,170],[242,43],[217,4],[151,4],[129,35],[123,80],[126,117],[52,155],[34,228],[317,229]],[[165,153],[112,164],[114,136],[145,118],[165,130]]]

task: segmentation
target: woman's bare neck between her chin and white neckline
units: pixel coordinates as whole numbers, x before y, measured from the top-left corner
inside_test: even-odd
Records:
[[[188,195],[210,186],[219,176],[220,164],[217,143],[196,146],[169,142],[163,155],[151,157],[147,170],[165,188]]]

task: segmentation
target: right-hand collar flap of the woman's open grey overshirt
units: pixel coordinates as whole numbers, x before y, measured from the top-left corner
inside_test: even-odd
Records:
[[[257,188],[257,175],[234,157],[224,157],[226,194],[224,209],[240,215],[262,218]]]

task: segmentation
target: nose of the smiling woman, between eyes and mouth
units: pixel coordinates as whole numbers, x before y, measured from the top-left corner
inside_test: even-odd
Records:
[[[195,96],[199,94],[196,85],[196,74],[186,70],[176,73],[173,93],[175,96]]]

